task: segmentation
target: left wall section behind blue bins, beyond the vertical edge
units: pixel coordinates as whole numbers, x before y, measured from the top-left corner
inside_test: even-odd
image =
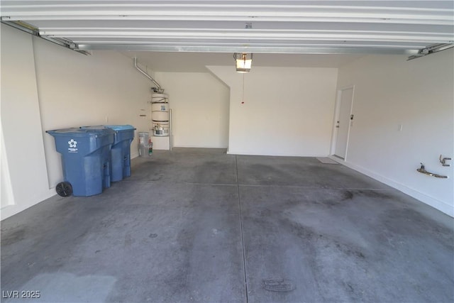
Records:
[[[99,124],[131,124],[137,128],[131,157],[138,156],[139,131],[149,130],[148,101],[152,83],[116,52],[86,56],[34,38],[36,77],[43,130]],[[49,184],[62,181],[60,154],[45,133]]]

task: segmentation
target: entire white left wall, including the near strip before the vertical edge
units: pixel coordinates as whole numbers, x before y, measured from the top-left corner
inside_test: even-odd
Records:
[[[2,219],[51,197],[62,181],[60,154],[45,131],[106,123],[148,131],[140,114],[148,114],[151,82],[119,53],[86,56],[1,25],[1,76],[1,173],[9,175],[13,199],[4,203],[2,189],[2,206],[11,204]],[[8,187],[3,177],[1,185]]]

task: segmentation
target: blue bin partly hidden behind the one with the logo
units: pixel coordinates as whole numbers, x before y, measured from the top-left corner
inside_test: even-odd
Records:
[[[131,176],[131,143],[134,139],[134,126],[106,125],[115,131],[114,145],[111,148],[111,181],[121,181]]]

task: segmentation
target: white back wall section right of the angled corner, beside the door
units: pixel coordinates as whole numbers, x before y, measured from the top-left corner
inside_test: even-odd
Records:
[[[208,68],[231,89],[228,153],[329,154],[337,69]]]

